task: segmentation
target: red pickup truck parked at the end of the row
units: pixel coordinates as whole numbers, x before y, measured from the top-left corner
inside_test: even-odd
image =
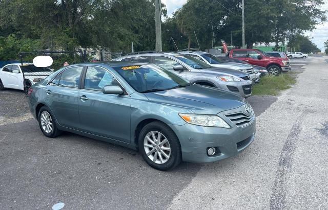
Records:
[[[230,58],[237,58],[252,65],[263,66],[268,69],[270,75],[278,75],[292,69],[288,58],[272,57],[257,49],[232,49],[228,55]]]

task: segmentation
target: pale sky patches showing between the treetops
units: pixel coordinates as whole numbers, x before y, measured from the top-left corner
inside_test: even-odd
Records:
[[[166,5],[168,16],[171,17],[172,13],[181,8],[187,0],[161,0],[161,2]],[[328,10],[328,0],[324,0],[324,2],[325,4],[321,8],[322,10]],[[312,32],[306,32],[306,35],[309,35],[312,38],[312,42],[317,44],[319,49],[323,48],[323,42],[328,40],[328,22],[317,25],[315,30]]]

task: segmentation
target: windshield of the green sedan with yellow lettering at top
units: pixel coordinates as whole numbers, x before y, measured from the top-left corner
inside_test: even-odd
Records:
[[[114,69],[138,92],[155,92],[192,84],[153,64],[114,67]]]

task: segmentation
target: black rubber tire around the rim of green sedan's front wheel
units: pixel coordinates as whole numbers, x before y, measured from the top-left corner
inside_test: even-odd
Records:
[[[151,133],[152,131],[160,132],[163,135],[163,138],[166,138],[168,140],[169,148],[171,149],[170,154],[169,154],[170,156],[167,159],[167,161],[164,163],[157,164],[156,162],[151,160],[150,157],[148,157],[148,155],[146,154],[146,149],[144,147],[144,141],[145,141],[146,135]],[[157,135],[157,137],[158,137],[158,135]],[[158,145],[160,145],[160,144],[158,144]],[[182,161],[181,146],[179,143],[179,139],[177,138],[177,136],[175,135],[175,133],[169,126],[167,126],[166,124],[163,124],[161,122],[149,123],[144,128],[141,129],[139,138],[138,138],[138,146],[139,146],[139,151],[140,151],[142,157],[145,159],[147,164],[154,169],[157,169],[160,171],[167,171],[167,170],[173,169],[174,167],[178,166]],[[153,147],[153,149],[155,149],[155,147]],[[155,156],[156,152],[157,152],[157,150],[154,151],[153,156]],[[161,153],[161,152],[158,151],[158,153]],[[156,157],[157,157],[157,155],[156,155]]]

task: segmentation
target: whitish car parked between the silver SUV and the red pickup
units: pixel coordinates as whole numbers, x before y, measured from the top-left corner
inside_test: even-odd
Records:
[[[197,59],[199,59],[203,62],[206,62],[207,64],[214,66],[214,67],[230,68],[230,69],[241,71],[243,73],[247,73],[253,82],[255,82],[257,80],[256,74],[254,73],[254,70],[253,70],[253,67],[250,64],[224,63],[219,58],[217,58],[214,55],[209,54],[207,52],[183,51],[183,52],[178,52],[178,53],[197,58]]]

